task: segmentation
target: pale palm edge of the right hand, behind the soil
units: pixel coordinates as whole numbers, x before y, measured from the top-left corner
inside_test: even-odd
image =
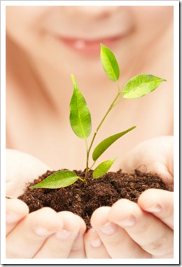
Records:
[[[121,169],[157,173],[167,185],[173,185],[173,136],[160,136],[139,143],[121,161]]]

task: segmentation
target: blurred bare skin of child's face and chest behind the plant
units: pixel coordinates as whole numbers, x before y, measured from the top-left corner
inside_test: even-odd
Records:
[[[98,39],[101,33],[101,38],[104,38],[126,32],[124,37],[111,44],[120,65],[121,88],[128,79],[141,73],[167,79],[150,95],[123,100],[112,110],[99,131],[95,145],[106,138],[106,133],[109,136],[130,126],[137,125],[137,128],[123,137],[123,142],[106,151],[101,161],[112,157],[123,158],[131,148],[149,138],[172,135],[172,13],[170,6],[105,6],[99,9],[94,6],[8,6],[6,147],[34,155],[52,169],[84,169],[85,143],[73,134],[68,119],[73,89],[71,73],[87,100],[93,131],[116,96],[117,86],[106,77],[99,51],[91,55],[85,55],[79,49],[73,51],[52,37],[58,31],[54,30],[57,27],[60,36],[91,40]],[[71,21],[74,21],[74,28],[70,25]],[[84,22],[85,28],[80,27],[80,21]],[[83,151],[79,157],[78,150]],[[115,163],[115,169],[118,168],[120,162]]]

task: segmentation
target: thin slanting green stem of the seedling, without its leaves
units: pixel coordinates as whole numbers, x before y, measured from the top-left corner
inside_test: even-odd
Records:
[[[119,86],[118,83],[117,83],[117,86],[118,86],[118,93],[117,93],[117,96],[116,96],[116,98],[114,98],[114,100],[113,100],[113,102],[111,103],[109,109],[106,111],[106,114],[104,115],[102,121],[101,121],[101,122],[99,123],[99,125],[97,126],[96,131],[94,131],[94,135],[93,135],[93,137],[92,137],[92,141],[91,141],[91,143],[90,143],[89,148],[87,147],[87,162],[86,162],[86,171],[85,171],[85,178],[84,178],[84,181],[86,181],[86,179],[87,179],[87,173],[88,173],[88,171],[90,170],[89,167],[88,167],[88,164],[89,164],[89,156],[90,156],[90,150],[91,150],[92,145],[93,145],[93,143],[94,143],[94,139],[95,139],[95,137],[97,136],[97,133],[98,133],[100,127],[102,126],[104,120],[106,119],[107,115],[109,115],[109,112],[113,109],[113,107],[114,107],[115,105],[117,105],[117,104],[120,102],[120,100],[119,100],[118,103],[116,103],[116,101],[118,100],[118,97],[119,97],[120,94],[121,94],[120,86]],[[121,100],[122,100],[122,99],[121,99]],[[87,145],[87,142],[86,142],[86,145]],[[95,162],[94,162],[94,163],[95,163]],[[94,165],[94,164],[92,164],[92,167],[93,167],[93,165]]]

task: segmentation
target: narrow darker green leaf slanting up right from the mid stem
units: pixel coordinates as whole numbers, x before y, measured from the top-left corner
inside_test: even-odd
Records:
[[[136,128],[136,126],[133,126],[130,129],[127,129],[126,131],[122,131],[120,133],[116,133],[113,136],[109,136],[108,138],[104,139],[97,147],[94,149],[94,152],[92,153],[92,159],[95,161],[97,160],[102,153],[109,148],[110,145],[112,145],[115,141],[118,140],[121,136],[124,136],[125,133],[128,133],[129,131],[132,131],[132,129]]]

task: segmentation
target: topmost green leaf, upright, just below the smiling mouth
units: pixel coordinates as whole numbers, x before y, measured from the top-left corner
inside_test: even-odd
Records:
[[[104,46],[104,44],[101,44],[100,56],[107,77],[109,77],[111,81],[118,81],[120,77],[120,68],[113,52],[108,47]]]

